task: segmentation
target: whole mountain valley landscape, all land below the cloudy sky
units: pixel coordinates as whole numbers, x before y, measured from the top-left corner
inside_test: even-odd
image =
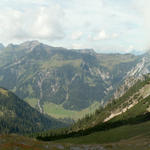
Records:
[[[0,64],[4,150],[149,148],[149,52],[97,54],[31,41],[0,54],[9,60]]]

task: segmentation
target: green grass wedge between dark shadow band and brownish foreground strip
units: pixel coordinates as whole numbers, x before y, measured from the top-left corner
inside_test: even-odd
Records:
[[[73,144],[104,144],[127,140],[136,136],[150,136],[150,121],[113,128],[107,131],[95,132],[87,136],[58,140]]]

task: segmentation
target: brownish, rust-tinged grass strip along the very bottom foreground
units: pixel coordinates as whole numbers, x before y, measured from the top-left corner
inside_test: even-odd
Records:
[[[128,140],[121,140],[105,144],[69,144],[71,141],[42,142],[18,135],[0,135],[1,150],[149,150],[150,135],[136,136]],[[78,139],[77,139],[78,140]],[[103,147],[103,149],[102,149]]]

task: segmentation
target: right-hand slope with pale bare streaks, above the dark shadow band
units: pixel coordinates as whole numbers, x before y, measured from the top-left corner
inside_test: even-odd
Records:
[[[118,99],[113,99],[103,108],[98,109],[95,114],[85,117],[85,120],[80,120],[79,124],[86,125],[85,127],[95,126],[101,122],[108,122],[117,117],[136,117],[148,112],[150,95],[150,75],[141,77],[127,92]],[[145,105],[146,103],[146,105]],[[140,109],[138,109],[138,107]],[[137,108],[137,110],[136,110]],[[133,110],[133,111],[131,111]],[[131,111],[131,114],[128,113]],[[77,124],[75,124],[76,126]],[[77,127],[79,127],[77,125]],[[84,127],[81,127],[84,129]]]

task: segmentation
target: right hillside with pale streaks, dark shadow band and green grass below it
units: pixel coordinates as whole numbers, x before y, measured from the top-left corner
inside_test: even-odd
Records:
[[[122,97],[110,102],[70,129],[36,134],[41,140],[74,144],[130,143],[150,135],[150,75],[137,81]],[[55,134],[54,134],[55,133]],[[127,142],[127,143],[128,143]],[[148,143],[145,144],[148,147]],[[138,145],[138,143],[136,143]],[[130,147],[128,149],[133,149]],[[137,146],[137,148],[139,148]],[[144,148],[144,145],[143,145]],[[118,148],[119,149],[119,148]]]

